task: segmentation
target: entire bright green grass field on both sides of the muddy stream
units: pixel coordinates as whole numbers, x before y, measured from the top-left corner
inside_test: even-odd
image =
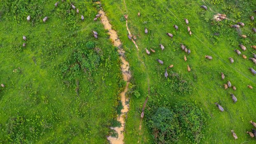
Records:
[[[119,93],[125,82],[117,48],[112,45],[100,20],[93,21],[99,7],[92,0],[60,1],[58,7],[54,7],[55,2],[0,0],[0,83],[5,84],[4,88],[0,87],[2,144],[108,143],[109,127],[116,124]],[[256,33],[251,30],[256,28],[256,21],[250,20],[250,16],[256,17],[253,12],[256,0],[100,2],[126,51],[133,91],[140,93],[139,98],[130,94],[131,88],[128,93],[130,109],[125,125],[126,144],[154,143],[145,118],[140,129],[140,114],[147,97],[149,101],[155,100],[163,105],[175,105],[186,100],[205,111],[209,119],[200,143],[256,142],[246,133],[253,128],[249,121],[256,121],[256,79],[248,70],[249,67],[256,69],[249,60],[252,53],[256,53],[250,48],[256,45]],[[70,7],[71,3],[79,9],[79,14]],[[201,5],[206,5],[207,11],[200,8]],[[35,12],[30,22],[26,21],[28,12]],[[213,16],[217,13],[226,14],[231,20],[216,22]],[[84,21],[81,21],[81,14]],[[130,32],[137,37],[138,50],[127,37],[124,14],[128,14]],[[45,16],[49,19],[43,23]],[[188,25],[185,18],[189,20]],[[245,23],[241,31],[230,27],[238,21]],[[178,30],[173,27],[175,24],[179,26]],[[192,36],[187,26],[190,26]],[[144,28],[149,30],[147,35]],[[99,33],[98,39],[92,36],[91,30]],[[165,33],[172,33],[174,37],[170,38]],[[247,35],[247,38],[243,39],[240,34]],[[23,35],[27,37],[26,47],[22,47],[25,42]],[[100,49],[99,53],[98,49],[86,47],[89,41]],[[181,43],[191,49],[190,55],[180,49]],[[165,46],[164,51],[159,44]],[[247,51],[242,51],[239,44],[246,46]],[[152,48],[156,53],[147,55],[145,48]],[[235,49],[239,49],[247,59],[238,56]],[[73,70],[75,65],[80,65],[74,59],[76,51],[88,53],[88,57],[89,53],[100,56],[98,65],[90,63],[86,72],[81,66]],[[205,55],[213,59],[207,60]],[[231,64],[229,57],[235,62]],[[164,64],[160,65],[156,59],[163,60]],[[172,78],[165,79],[165,69],[171,64],[174,67],[168,73],[176,72],[188,81],[193,89],[191,93],[180,95],[172,86]],[[70,71],[63,72],[63,65],[70,67]],[[187,65],[191,72],[187,71]],[[221,72],[225,74],[223,80]],[[76,93],[77,81],[79,95]],[[227,81],[237,90],[224,90],[223,84]],[[237,97],[236,103],[233,103],[230,93]],[[220,112],[214,102],[222,105],[224,112]],[[230,130],[235,130],[238,139],[234,140]],[[187,137],[183,136],[180,143],[189,143]]]

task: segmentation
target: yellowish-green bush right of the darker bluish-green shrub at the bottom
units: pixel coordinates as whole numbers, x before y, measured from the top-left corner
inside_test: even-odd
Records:
[[[203,128],[207,118],[201,108],[191,102],[181,101],[173,107],[178,115],[183,132],[192,143],[199,143],[203,135]]]

